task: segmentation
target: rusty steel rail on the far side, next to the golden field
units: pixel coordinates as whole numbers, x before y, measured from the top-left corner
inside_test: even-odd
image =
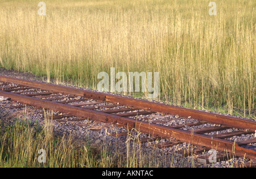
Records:
[[[0,81],[16,83],[24,86],[30,86],[40,88],[42,90],[49,90],[55,92],[69,93],[72,95],[84,96],[89,99],[106,101],[109,103],[118,102],[120,105],[126,105],[133,108],[150,109],[155,112],[166,113],[166,114],[179,114],[180,116],[196,118],[198,120],[204,120],[212,123],[227,125],[240,129],[256,130],[256,122],[250,120],[244,120],[236,117],[223,116],[221,114],[214,114],[210,112],[203,112],[200,110],[193,110],[188,108],[182,108],[179,106],[172,106],[160,103],[153,103],[150,101],[126,98],[123,96],[111,95],[108,93],[92,92],[88,90],[79,90],[72,87],[57,86],[55,84],[38,83],[29,80],[20,80],[17,78],[11,78],[7,76],[0,76]]]

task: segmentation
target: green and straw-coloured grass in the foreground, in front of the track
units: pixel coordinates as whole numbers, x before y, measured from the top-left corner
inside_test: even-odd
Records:
[[[77,139],[72,135],[63,135],[63,137],[55,135],[52,112],[45,111],[43,125],[31,121],[28,116],[29,114],[24,110],[23,115],[15,119],[10,116],[0,118],[1,168],[163,167],[163,164],[160,165],[159,161],[156,161],[154,150],[143,154],[141,144],[137,143],[140,133],[135,136],[131,134],[136,131],[135,129],[130,131],[126,139],[127,154],[125,154],[120,150],[117,142],[104,140],[98,146],[93,146],[88,141]],[[116,146],[115,150],[110,150],[111,145]],[[148,150],[151,150],[150,147]],[[43,158],[44,154],[45,158]],[[43,159],[45,161],[40,163]],[[164,165],[168,166],[168,160],[164,162]]]

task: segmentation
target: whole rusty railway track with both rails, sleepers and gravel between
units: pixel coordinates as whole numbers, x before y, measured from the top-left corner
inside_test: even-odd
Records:
[[[233,136],[254,135],[256,122],[252,120],[7,76],[0,76],[0,96],[8,97],[22,104],[47,108],[65,114],[53,116],[54,120],[76,116],[93,121],[113,123],[129,129],[135,128],[141,133],[151,134],[151,139],[175,138],[175,142],[159,147],[186,142],[199,146],[197,152],[214,148],[218,151],[226,151],[239,157],[256,160],[256,151],[245,147],[246,144],[256,143],[256,138],[236,142],[228,140]],[[10,108],[22,107],[23,105]],[[175,117],[170,117],[170,115]],[[157,120],[154,120],[154,116],[157,117]],[[180,125],[170,125],[174,120],[182,122]],[[196,127],[201,125],[205,127]],[[231,129],[230,132],[221,133],[221,131],[229,131],[229,129]],[[125,134],[115,135],[118,137]],[[145,142],[148,142],[148,139]],[[206,162],[206,159],[201,158],[200,160]]]

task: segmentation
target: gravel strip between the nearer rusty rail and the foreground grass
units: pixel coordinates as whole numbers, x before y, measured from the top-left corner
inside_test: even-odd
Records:
[[[8,104],[6,101],[0,101],[0,104]],[[33,110],[32,110],[33,109]],[[44,113],[40,109],[34,109],[31,106],[27,106],[27,111],[32,112],[28,115],[28,119],[34,123],[39,123],[43,125],[44,123]],[[7,112],[8,111],[8,112]],[[16,109],[3,109],[1,108],[0,115],[3,116],[3,113],[7,112],[8,114],[15,113]],[[53,116],[62,113],[52,112]],[[5,114],[6,115],[6,114]],[[71,117],[69,120],[76,119],[76,117]],[[8,120],[9,123],[15,120]],[[79,126],[79,124],[83,124],[85,126]],[[87,126],[86,126],[87,125]],[[96,130],[97,129],[97,130]],[[82,139],[88,143],[92,147],[98,148],[98,146],[102,143],[107,144],[108,150],[116,154],[127,155],[127,145],[130,147],[130,154],[133,154],[133,149],[138,147],[137,143],[135,143],[138,139],[143,139],[147,137],[146,134],[137,133],[135,130],[128,131],[123,127],[117,127],[113,124],[106,124],[103,122],[94,122],[92,120],[85,119],[84,121],[73,122],[73,121],[65,121],[65,122],[56,122],[53,121],[53,131],[57,135],[73,135],[77,139]],[[129,132],[129,135],[122,137],[113,137],[110,134],[115,133],[123,133]],[[155,156],[154,160],[156,163],[159,163],[159,167],[230,167],[232,166],[230,163],[232,161],[222,161],[217,162],[216,164],[207,164],[202,165],[198,164],[196,160],[193,160],[191,156],[183,157],[175,155],[177,151],[187,150],[191,148],[191,144],[180,143],[168,148],[156,148],[154,147],[156,144],[170,142],[173,139],[161,139],[156,140],[155,142],[148,142],[145,144],[141,144],[139,147],[143,152],[143,156]],[[128,143],[127,143],[128,142]],[[135,147],[134,147],[135,146]],[[244,159],[236,159],[239,162],[244,161]],[[236,162],[238,162],[236,161]]]

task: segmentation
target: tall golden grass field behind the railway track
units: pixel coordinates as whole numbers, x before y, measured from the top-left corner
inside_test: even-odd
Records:
[[[0,1],[0,67],[96,89],[101,71],[158,71],[158,100],[255,110],[254,0]],[[145,97],[146,94],[130,94]]]

